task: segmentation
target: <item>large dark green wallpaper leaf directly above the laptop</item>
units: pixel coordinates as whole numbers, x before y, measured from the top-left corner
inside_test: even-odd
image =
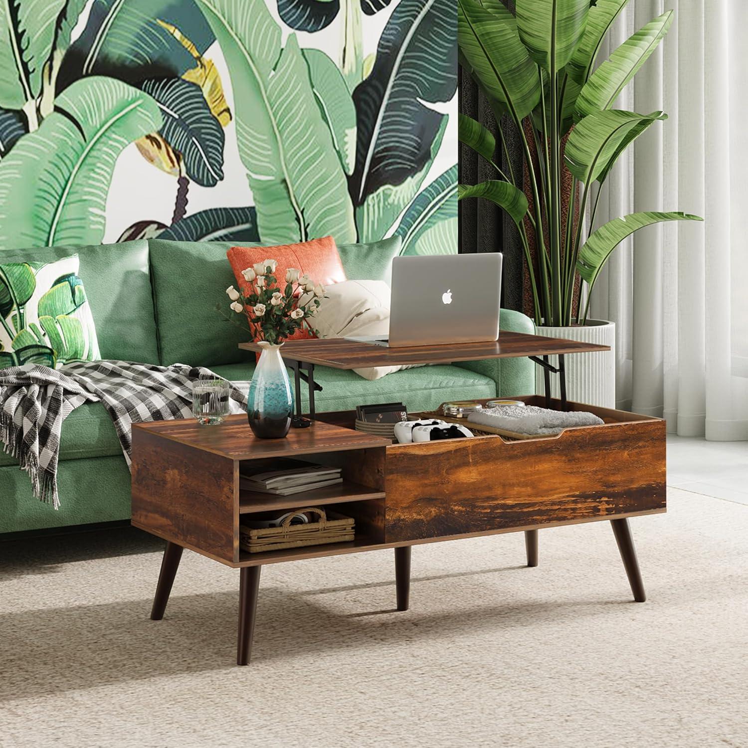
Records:
[[[457,88],[454,6],[400,0],[381,34],[372,72],[353,92],[358,122],[349,190],[359,238],[378,239],[410,203],[441,143],[436,111]]]

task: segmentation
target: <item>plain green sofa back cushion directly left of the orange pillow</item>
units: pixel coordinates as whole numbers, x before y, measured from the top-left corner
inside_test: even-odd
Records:
[[[240,351],[250,339],[216,310],[230,312],[226,289],[236,283],[227,251],[236,242],[168,242],[148,239],[161,364],[234,364],[254,361]],[[263,258],[264,259],[264,258]]]

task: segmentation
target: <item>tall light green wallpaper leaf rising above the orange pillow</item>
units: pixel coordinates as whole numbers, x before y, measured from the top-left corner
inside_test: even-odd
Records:
[[[263,242],[355,241],[346,175],[295,35],[281,53],[281,29],[263,0],[199,4],[231,73],[239,156]]]

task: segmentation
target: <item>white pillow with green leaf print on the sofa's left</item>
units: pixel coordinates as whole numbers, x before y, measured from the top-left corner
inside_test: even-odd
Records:
[[[0,265],[0,369],[98,361],[99,341],[78,255]]]

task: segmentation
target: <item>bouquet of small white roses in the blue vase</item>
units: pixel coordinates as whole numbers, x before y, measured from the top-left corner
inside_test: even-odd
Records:
[[[242,270],[248,283],[244,292],[234,286],[226,289],[231,310],[246,317],[252,337],[274,345],[283,343],[301,328],[311,329],[309,320],[325,295],[320,283],[314,283],[307,275],[300,275],[295,268],[286,271],[283,283],[274,275],[277,267],[276,260],[255,263],[251,268]],[[220,304],[218,310],[221,310]],[[236,318],[225,313],[224,316],[239,327],[244,327]]]

